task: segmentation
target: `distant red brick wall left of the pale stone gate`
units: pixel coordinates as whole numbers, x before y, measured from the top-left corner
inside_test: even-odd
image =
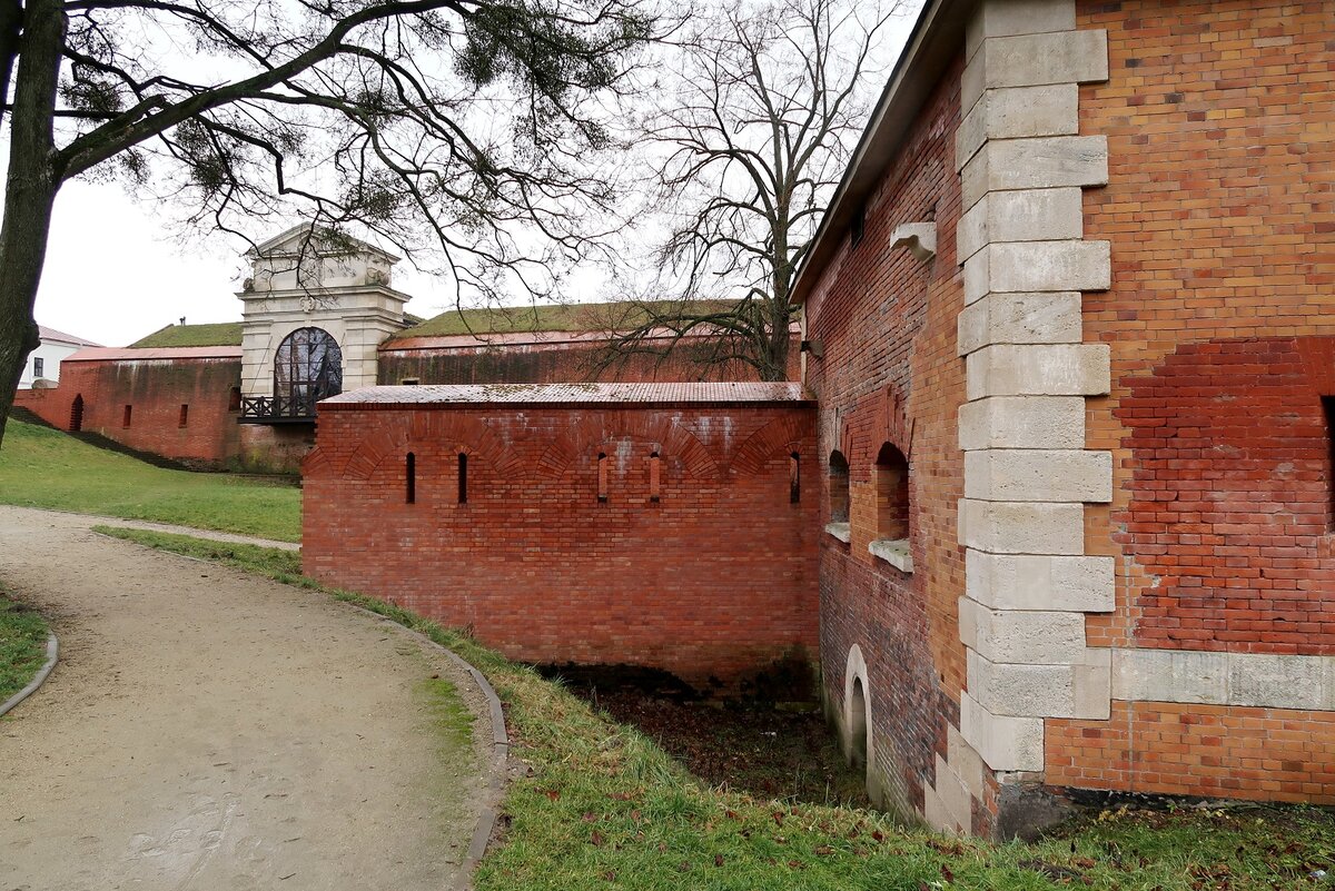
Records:
[[[73,400],[83,396],[84,431],[140,451],[215,466],[238,454],[239,412],[228,409],[228,393],[240,375],[236,359],[65,360],[59,388],[28,391],[33,395],[15,404],[68,429]],[[125,405],[131,407],[128,427]],[[182,405],[188,405],[184,425]]]

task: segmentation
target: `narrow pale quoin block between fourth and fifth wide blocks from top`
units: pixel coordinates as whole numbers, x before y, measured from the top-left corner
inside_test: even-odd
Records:
[[[960,405],[960,448],[1084,448],[1083,396],[992,396]]]

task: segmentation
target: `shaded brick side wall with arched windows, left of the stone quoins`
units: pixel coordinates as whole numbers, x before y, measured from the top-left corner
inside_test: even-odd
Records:
[[[845,660],[857,644],[869,674],[877,768],[890,800],[914,808],[922,807],[924,783],[934,782],[934,754],[945,754],[947,723],[959,724],[965,674],[956,606],[964,592],[956,544],[964,479],[956,435],[963,287],[955,252],[961,67],[963,59],[947,71],[882,176],[862,241],[850,248],[845,240],[808,301],[806,336],[825,348],[824,359],[806,364],[820,399],[821,466],[841,451],[852,495],[852,542],[821,539],[825,694],[841,707]],[[896,225],[928,219],[937,225],[934,260],[889,247]],[[882,443],[910,464],[910,575],[868,552],[878,538],[873,467]]]

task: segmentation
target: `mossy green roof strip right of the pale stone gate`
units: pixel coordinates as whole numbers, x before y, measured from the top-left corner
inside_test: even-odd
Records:
[[[538,331],[625,331],[650,319],[651,312],[717,312],[732,307],[730,300],[657,300],[653,303],[575,303],[525,307],[450,309],[422,324],[405,328],[405,337],[449,337],[469,333],[529,333]]]

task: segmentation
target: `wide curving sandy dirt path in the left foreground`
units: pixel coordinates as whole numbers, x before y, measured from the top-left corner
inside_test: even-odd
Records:
[[[60,638],[45,686],[0,719],[0,888],[463,880],[490,730],[442,730],[458,700],[433,676],[486,715],[445,654],[96,522],[0,507],[0,582]]]

